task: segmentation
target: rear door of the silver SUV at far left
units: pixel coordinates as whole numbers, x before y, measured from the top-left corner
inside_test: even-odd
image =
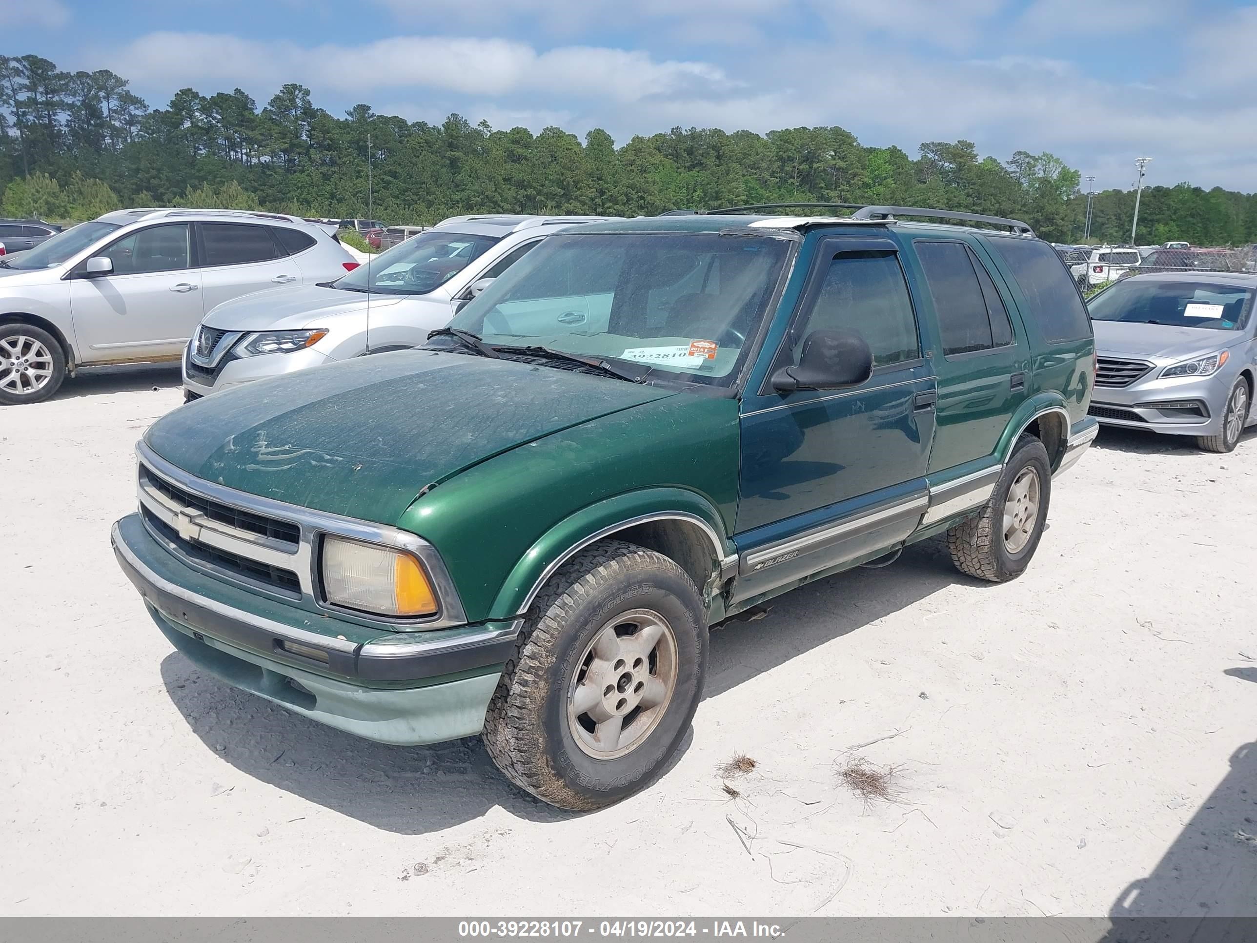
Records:
[[[300,282],[302,270],[268,225],[197,223],[205,312],[241,294]]]

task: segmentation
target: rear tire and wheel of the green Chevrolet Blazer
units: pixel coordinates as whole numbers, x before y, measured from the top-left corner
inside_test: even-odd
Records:
[[[1016,580],[1038,548],[1051,497],[1047,449],[1023,435],[982,510],[947,532],[955,568],[997,583]]]

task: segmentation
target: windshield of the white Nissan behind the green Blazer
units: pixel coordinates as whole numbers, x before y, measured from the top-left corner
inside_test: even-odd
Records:
[[[338,279],[336,287],[380,294],[427,294],[459,274],[497,241],[497,236],[421,233],[388,251],[368,256],[367,262]]]

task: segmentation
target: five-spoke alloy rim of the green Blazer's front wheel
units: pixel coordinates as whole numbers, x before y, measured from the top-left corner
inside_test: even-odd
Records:
[[[662,719],[676,687],[676,635],[659,612],[635,609],[606,622],[577,660],[567,722],[595,759],[631,752]]]

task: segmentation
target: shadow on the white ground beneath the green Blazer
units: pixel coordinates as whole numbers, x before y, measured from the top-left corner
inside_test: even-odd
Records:
[[[926,542],[908,548],[892,567],[856,570],[787,593],[767,617],[728,622],[713,634],[705,697],[967,580],[952,567],[945,547]],[[245,776],[378,829],[421,835],[476,819],[494,806],[530,821],[577,815],[507,782],[479,738],[390,747],[228,687],[177,651],[162,661],[161,674],[175,707],[207,751]],[[693,729],[662,775],[691,739]]]

